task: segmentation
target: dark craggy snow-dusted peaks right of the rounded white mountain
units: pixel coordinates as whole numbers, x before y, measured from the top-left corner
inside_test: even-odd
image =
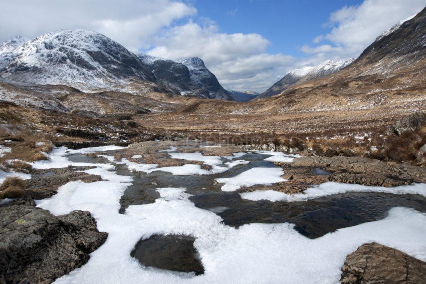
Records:
[[[177,61],[147,54],[138,54],[138,57],[150,67],[158,82],[177,90],[182,96],[235,100],[198,57],[187,57]]]

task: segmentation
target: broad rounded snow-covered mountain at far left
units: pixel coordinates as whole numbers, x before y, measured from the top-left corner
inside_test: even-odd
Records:
[[[82,90],[125,84],[131,79],[155,82],[136,55],[96,32],[61,30],[24,40],[15,40],[15,45],[21,45],[12,50],[14,43],[2,44],[7,52],[0,55],[1,77]]]

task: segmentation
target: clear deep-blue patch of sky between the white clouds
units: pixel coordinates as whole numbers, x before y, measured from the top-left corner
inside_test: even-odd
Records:
[[[331,30],[326,27],[331,13],[362,1],[198,0],[192,3],[200,16],[218,23],[220,32],[257,33],[271,42],[267,52],[303,56],[298,47]]]

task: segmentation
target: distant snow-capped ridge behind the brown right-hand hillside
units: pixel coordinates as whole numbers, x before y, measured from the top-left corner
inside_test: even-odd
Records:
[[[280,81],[272,85],[271,88],[260,94],[258,98],[269,98],[280,94],[281,92],[285,91],[290,86],[296,83],[315,80],[330,75],[332,73],[342,70],[343,68],[351,64],[354,60],[355,59],[353,58],[338,61],[326,60],[315,67],[307,66],[301,69],[290,71]]]

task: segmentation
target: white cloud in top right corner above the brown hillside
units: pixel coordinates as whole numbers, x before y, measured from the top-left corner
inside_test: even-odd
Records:
[[[400,20],[424,8],[424,0],[365,0],[358,6],[345,6],[330,15],[326,27],[331,31],[317,36],[313,42],[328,40],[332,45],[307,45],[301,51],[328,53],[330,57],[357,57],[378,35]]]

